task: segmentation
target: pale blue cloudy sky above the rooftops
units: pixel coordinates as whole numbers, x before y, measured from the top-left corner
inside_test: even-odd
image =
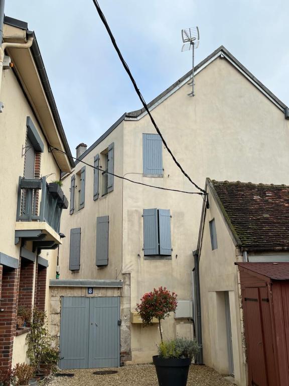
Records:
[[[181,30],[198,26],[196,64],[223,45],[289,106],[288,0],[98,2],[147,103],[190,70]],[[5,14],[35,31],[72,154],[142,107],[92,0],[6,0]]]

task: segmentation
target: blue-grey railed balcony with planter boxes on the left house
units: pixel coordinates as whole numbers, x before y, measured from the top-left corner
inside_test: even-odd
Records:
[[[33,249],[54,249],[61,244],[60,218],[68,201],[57,183],[46,178],[19,177],[15,244],[33,241]]]

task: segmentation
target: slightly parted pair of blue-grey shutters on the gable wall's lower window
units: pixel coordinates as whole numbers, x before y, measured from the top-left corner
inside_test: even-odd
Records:
[[[143,210],[145,256],[171,256],[171,214],[169,209]]]

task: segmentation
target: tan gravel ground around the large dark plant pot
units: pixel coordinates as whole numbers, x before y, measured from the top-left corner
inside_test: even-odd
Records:
[[[55,377],[46,383],[47,386],[158,386],[155,366],[152,364],[128,365],[117,370],[116,374],[94,375],[102,369],[61,370],[61,373],[74,373],[73,377]],[[207,366],[191,365],[187,386],[230,386],[219,373]]]

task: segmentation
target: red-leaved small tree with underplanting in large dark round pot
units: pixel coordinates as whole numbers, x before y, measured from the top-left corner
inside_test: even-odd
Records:
[[[161,343],[158,347],[159,355],[153,356],[160,386],[186,386],[192,357],[198,352],[195,341],[175,339],[163,340],[161,320],[176,312],[177,295],[170,293],[166,287],[159,287],[143,295],[136,311],[145,326],[152,325],[153,318],[159,321]]]

